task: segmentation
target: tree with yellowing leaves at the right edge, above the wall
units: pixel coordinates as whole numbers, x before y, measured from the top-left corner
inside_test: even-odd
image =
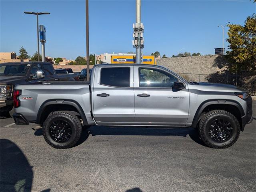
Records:
[[[248,16],[244,26],[228,25],[227,51],[230,72],[256,71],[256,14]]]

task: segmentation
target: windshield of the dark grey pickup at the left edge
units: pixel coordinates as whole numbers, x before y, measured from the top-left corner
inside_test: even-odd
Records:
[[[25,76],[29,69],[28,64],[4,64],[0,66],[0,76]]]

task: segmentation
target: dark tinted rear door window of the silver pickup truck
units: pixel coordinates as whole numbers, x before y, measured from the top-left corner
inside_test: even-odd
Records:
[[[113,87],[130,87],[130,67],[102,68],[100,84]]]

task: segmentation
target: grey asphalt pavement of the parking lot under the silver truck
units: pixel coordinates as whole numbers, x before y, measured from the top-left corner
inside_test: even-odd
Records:
[[[212,149],[190,128],[93,126],[60,150],[36,124],[1,119],[0,191],[255,192],[255,129],[254,119],[233,146]]]

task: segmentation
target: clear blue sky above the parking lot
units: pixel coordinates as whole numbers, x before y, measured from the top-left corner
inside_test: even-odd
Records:
[[[136,0],[89,0],[90,53],[135,52],[132,24]],[[244,25],[256,12],[250,0],[142,0],[144,55],[180,52],[214,54],[222,47],[219,24]],[[76,59],[86,55],[85,0],[0,0],[0,52],[37,51],[36,16],[46,27],[46,55]],[[227,38],[225,28],[225,39]],[[225,48],[228,43],[225,42]],[[40,46],[41,51],[41,46]]]

